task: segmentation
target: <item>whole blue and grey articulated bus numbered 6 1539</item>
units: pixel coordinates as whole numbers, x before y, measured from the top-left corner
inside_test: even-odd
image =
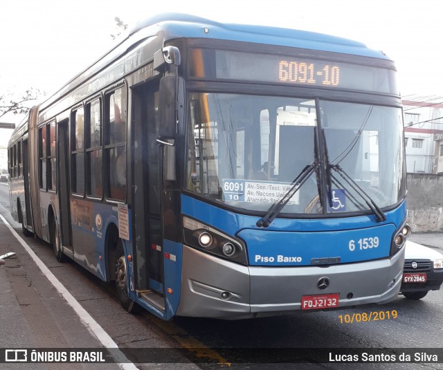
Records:
[[[17,127],[12,214],[165,320],[390,302],[409,233],[395,75],[347,39],[152,17]]]

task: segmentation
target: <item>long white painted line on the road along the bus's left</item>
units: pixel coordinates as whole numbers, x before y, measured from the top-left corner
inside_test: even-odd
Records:
[[[89,313],[80,305],[80,303],[77,302],[77,300],[73,297],[73,295],[71,295],[71,293],[69,293],[69,290],[67,290],[64,287],[64,285],[60,282],[60,280],[57,279],[57,277],[55,277],[55,275],[51,272],[51,270],[49,270],[46,267],[46,265],[43,263],[43,261],[41,259],[39,259],[39,257],[37,257],[35,252],[30,248],[30,246],[28,246],[26,241],[21,239],[19,234],[17,234],[17,232],[14,230],[14,228],[12,228],[12,226],[8,223],[8,221],[6,221],[6,219],[3,217],[3,215],[0,214],[0,218],[5,223],[5,225],[8,227],[8,229],[10,230],[12,235],[15,236],[15,239],[17,239],[17,241],[19,241],[21,246],[23,246],[23,248],[25,248],[26,252],[28,252],[28,255],[30,255],[30,257],[35,261],[35,263],[37,264],[39,269],[43,272],[43,274],[46,276],[46,278],[49,281],[51,281],[51,284],[53,284],[55,289],[57,289],[58,293],[60,293],[60,295],[62,295],[62,297],[64,297],[64,299],[66,299],[66,302],[69,304],[69,306],[71,306],[71,308],[73,308],[75,313],[77,313],[78,317],[80,318],[80,320],[82,321],[84,326],[86,326],[88,331],[92,335],[94,335],[105,348],[117,348],[118,349],[118,344],[116,344],[116,342],[114,342],[114,340],[98,324],[98,322],[96,322],[96,320],[94,320],[93,317],[91,315],[89,315]],[[113,354],[116,362],[119,362],[118,366],[121,369],[124,369],[124,370],[134,370],[134,369],[136,370],[137,369],[137,367],[132,362],[129,362],[129,360],[127,360],[126,356],[121,351],[118,351],[118,353],[114,353],[114,351],[113,351],[112,354]]]

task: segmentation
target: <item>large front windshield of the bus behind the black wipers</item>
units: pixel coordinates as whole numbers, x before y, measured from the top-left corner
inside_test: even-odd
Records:
[[[284,205],[284,214],[368,211],[404,197],[401,109],[302,98],[193,93],[186,188],[248,211],[269,210],[307,166],[314,171]],[[320,118],[318,117],[320,114]],[[318,129],[321,122],[321,131]],[[318,136],[322,135],[323,140]],[[318,147],[327,151],[328,201]],[[325,165],[325,168],[327,166]],[[344,181],[337,168],[352,182]],[[325,172],[323,172],[325,174]],[[326,203],[326,204],[324,204]]]

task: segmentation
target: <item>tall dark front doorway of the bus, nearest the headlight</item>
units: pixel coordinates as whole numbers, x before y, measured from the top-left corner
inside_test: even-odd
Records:
[[[136,290],[151,303],[163,304],[163,242],[161,232],[161,147],[156,142],[158,82],[132,90],[134,151],[134,243]],[[161,307],[160,307],[161,308]]]

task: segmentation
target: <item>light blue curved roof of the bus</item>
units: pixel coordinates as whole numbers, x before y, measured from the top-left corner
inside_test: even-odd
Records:
[[[149,37],[158,37],[161,44],[168,40],[183,37],[207,38],[323,50],[390,60],[380,50],[372,50],[366,47],[365,44],[341,37],[270,26],[221,24],[194,15],[164,13],[139,21],[131,30],[126,31],[124,35],[119,37],[114,48],[111,48],[91,66],[64,84],[41,104],[41,109],[49,107],[55,100],[86,82],[89,77],[96,75],[96,73],[99,73],[127,53],[128,50],[131,50],[132,47]]]

